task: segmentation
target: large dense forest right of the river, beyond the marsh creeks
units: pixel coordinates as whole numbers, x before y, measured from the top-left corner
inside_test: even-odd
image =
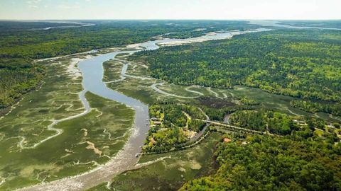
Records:
[[[232,40],[162,47],[134,54],[150,75],[182,85],[246,85],[312,100],[341,100],[341,33],[273,30]]]

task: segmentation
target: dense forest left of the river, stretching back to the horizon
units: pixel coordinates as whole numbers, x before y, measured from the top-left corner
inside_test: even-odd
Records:
[[[166,33],[171,33],[168,35],[173,37],[188,37],[202,35],[211,30],[243,30],[250,26],[245,21],[195,22],[0,21],[0,109],[15,103],[23,93],[33,90],[40,82],[44,73],[43,66],[33,64],[33,59],[124,46],[151,40]],[[82,26],[86,23],[92,25]],[[205,28],[205,30],[197,30],[197,28]]]

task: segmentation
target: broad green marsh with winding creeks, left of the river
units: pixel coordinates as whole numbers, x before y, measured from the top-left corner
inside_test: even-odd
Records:
[[[92,110],[55,125],[63,133],[38,144],[56,132],[51,120],[84,111],[78,98],[81,79],[72,79],[63,66],[48,66],[44,86],[26,95],[0,120],[0,190],[13,190],[43,181],[77,175],[109,161],[117,154],[134,122],[134,110],[87,93]],[[36,147],[31,147],[34,146]],[[0,180],[0,183],[1,183]]]

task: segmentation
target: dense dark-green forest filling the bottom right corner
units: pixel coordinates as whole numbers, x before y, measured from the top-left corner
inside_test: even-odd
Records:
[[[308,139],[301,137],[306,132]],[[180,190],[341,190],[341,144],[334,133],[318,137],[306,127],[291,136],[242,141],[218,144],[217,173]]]

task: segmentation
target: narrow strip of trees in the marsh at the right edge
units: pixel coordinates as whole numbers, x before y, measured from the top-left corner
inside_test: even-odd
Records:
[[[292,100],[290,103],[294,108],[306,112],[326,112],[332,115],[341,116],[341,103],[320,103],[310,100]]]

